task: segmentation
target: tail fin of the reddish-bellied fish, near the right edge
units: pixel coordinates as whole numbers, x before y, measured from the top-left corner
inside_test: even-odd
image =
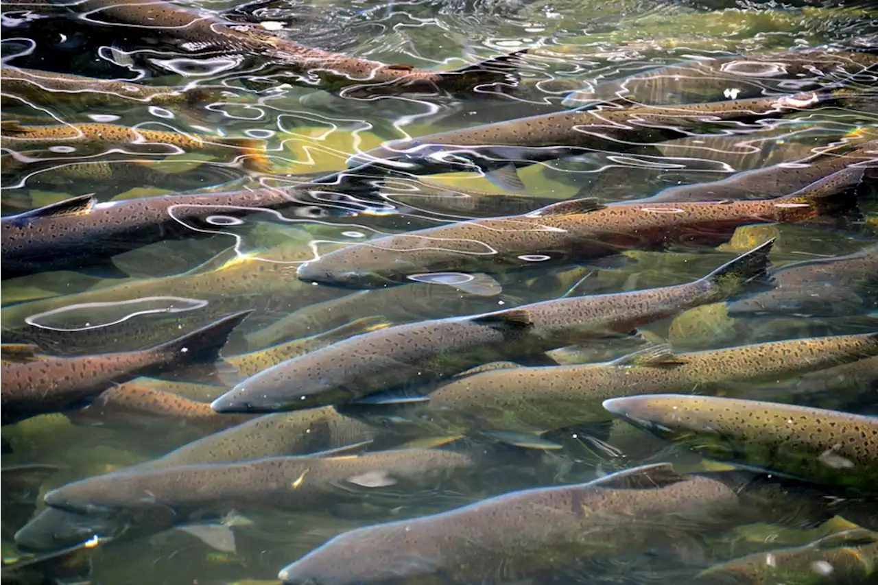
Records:
[[[862,183],[865,169],[847,167],[823,177],[819,181],[777,199],[778,219],[788,223],[815,218],[837,219],[857,207],[857,188]]]

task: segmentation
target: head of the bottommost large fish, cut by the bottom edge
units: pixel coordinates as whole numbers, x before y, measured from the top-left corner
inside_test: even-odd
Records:
[[[285,585],[402,585],[443,582],[428,553],[404,541],[399,523],[345,532],[277,575]]]

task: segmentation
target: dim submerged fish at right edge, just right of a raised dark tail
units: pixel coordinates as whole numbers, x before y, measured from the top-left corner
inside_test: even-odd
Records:
[[[878,246],[846,256],[788,264],[772,272],[775,287],[726,303],[732,318],[836,317],[874,308]]]

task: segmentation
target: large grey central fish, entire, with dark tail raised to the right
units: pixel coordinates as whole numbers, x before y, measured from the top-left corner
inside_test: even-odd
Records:
[[[555,364],[544,351],[630,335],[652,321],[738,294],[766,274],[774,241],[683,285],[548,300],[507,311],[420,321],[351,337],[275,365],[212,402],[217,412],[272,412],[427,385],[491,361]]]

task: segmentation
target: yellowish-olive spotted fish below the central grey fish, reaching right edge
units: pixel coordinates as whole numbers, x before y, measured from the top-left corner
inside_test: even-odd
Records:
[[[774,382],[878,355],[878,333],[810,337],[723,350],[674,353],[656,345],[604,364],[516,367],[460,375],[431,390],[429,401],[379,405],[363,420],[401,417],[428,432],[478,433],[547,430],[612,420],[601,403],[637,394],[728,393],[741,382]],[[366,418],[363,418],[363,415]]]

